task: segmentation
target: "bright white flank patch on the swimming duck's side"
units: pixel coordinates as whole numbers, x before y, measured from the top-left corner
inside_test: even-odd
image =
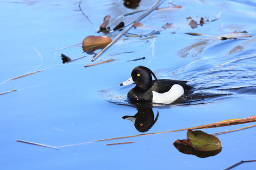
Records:
[[[160,94],[155,91],[152,91],[152,92],[153,92],[153,99],[152,99],[153,103],[170,104],[175,100],[179,99],[179,97],[184,94],[184,89],[179,84],[174,84],[174,86],[172,86],[172,88],[169,91],[163,94]]]

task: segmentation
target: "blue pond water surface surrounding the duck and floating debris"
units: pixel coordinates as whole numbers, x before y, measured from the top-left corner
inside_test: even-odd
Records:
[[[204,159],[182,154],[172,145],[176,139],[185,139],[186,131],[92,142],[254,116],[254,1],[175,2],[182,8],[154,11],[141,21],[151,27],[132,28],[129,33],[150,33],[166,23],[174,24],[173,28],[152,39],[122,37],[93,63],[117,60],[86,68],[92,56],[82,53],[80,45],[51,50],[77,44],[89,35],[102,35],[96,31],[105,15],[112,16],[109,26],[113,28],[120,20],[130,23],[141,12],[122,18],[135,10],[123,7],[121,1],[82,1],[91,24],[76,1],[16,2],[20,3],[0,2],[0,93],[17,90],[0,95],[1,169],[224,169],[241,160],[255,160],[254,128],[218,135],[222,151]],[[137,10],[146,10],[152,3],[142,1]],[[164,2],[160,7],[167,6]],[[188,25],[188,16],[212,20],[220,11],[214,22],[195,29]],[[234,31],[247,31],[239,35],[251,37],[219,39]],[[86,57],[63,64],[61,53],[72,59]],[[146,58],[127,62],[140,57]],[[119,84],[138,65],[150,68],[159,79],[187,80],[193,89],[170,105],[130,103],[126,94],[134,85]],[[47,70],[6,82],[42,69]],[[143,130],[124,120],[145,115],[150,115],[150,124]],[[249,125],[254,123],[203,131],[212,134]],[[106,146],[119,142],[134,143]],[[255,163],[244,163],[234,169],[254,167]]]

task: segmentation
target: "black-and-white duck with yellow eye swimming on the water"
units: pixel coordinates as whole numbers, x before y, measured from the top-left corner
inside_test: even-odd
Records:
[[[137,66],[120,86],[136,84],[127,94],[131,101],[171,104],[192,88],[186,83],[185,80],[157,79],[147,67]]]

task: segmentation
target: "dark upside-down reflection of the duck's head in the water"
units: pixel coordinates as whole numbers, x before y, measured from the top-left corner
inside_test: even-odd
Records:
[[[159,113],[155,117],[150,107],[138,107],[137,110],[138,112],[134,116],[123,116],[123,119],[132,121],[139,132],[146,132],[158,120]]]

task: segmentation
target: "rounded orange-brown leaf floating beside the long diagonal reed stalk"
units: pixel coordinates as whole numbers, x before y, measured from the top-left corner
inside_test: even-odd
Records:
[[[87,50],[95,51],[97,49],[103,49],[107,46],[112,39],[107,36],[88,36],[82,41],[82,49],[84,52]]]

